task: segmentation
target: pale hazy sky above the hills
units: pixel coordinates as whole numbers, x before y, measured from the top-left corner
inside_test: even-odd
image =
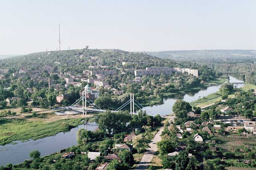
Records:
[[[255,0],[0,0],[0,54],[256,49]]]

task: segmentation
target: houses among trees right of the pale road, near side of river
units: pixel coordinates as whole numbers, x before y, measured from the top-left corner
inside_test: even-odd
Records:
[[[227,112],[233,112],[233,109],[230,107],[224,107],[221,109],[222,113]],[[200,114],[195,114],[193,112],[188,112],[187,115],[191,117],[192,119],[199,118]],[[222,127],[223,124],[229,124],[230,126]],[[238,133],[239,129],[245,129],[247,133],[244,131],[241,135],[256,135],[256,122],[251,121],[250,118],[246,118],[245,116],[225,116],[225,114],[218,116],[214,120],[210,121],[204,121],[201,124],[196,124],[194,121],[189,120],[184,123],[184,128],[181,129],[181,125],[176,125],[177,129],[179,130],[179,133],[176,134],[177,138],[182,139],[183,133],[185,131],[188,131],[189,133],[193,132],[193,129],[199,130],[199,127],[201,126],[201,133],[208,133],[209,135],[212,135],[213,133],[218,133],[218,130],[223,128],[223,131],[220,131],[220,133],[223,133],[222,135],[228,134],[228,133]],[[193,135],[193,139],[195,142],[198,143],[216,143],[216,141],[211,141],[210,139],[204,139],[203,135],[200,135],[199,133],[196,133]],[[181,143],[182,144],[182,143]],[[172,156],[176,156],[179,154],[179,151],[183,150],[186,146],[180,145],[176,148],[174,152],[168,153],[168,157],[171,158]],[[189,156],[192,156],[189,154]]]

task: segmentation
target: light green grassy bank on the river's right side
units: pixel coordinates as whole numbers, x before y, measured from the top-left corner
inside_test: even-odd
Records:
[[[236,90],[234,90],[229,96],[228,99],[231,99],[234,97],[234,94],[237,91],[248,91],[250,89],[256,89],[256,85],[254,84],[245,84],[245,86],[241,87],[241,88],[237,88]],[[196,101],[193,101],[191,103],[191,105],[196,106],[196,107],[205,107],[207,105],[212,105],[214,103],[217,103],[218,101],[221,100],[221,92],[217,91],[213,94],[210,94],[206,97],[203,97],[201,99],[198,99]]]

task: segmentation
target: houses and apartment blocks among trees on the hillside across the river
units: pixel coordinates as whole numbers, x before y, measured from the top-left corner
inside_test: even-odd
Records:
[[[105,88],[107,90],[111,90],[114,95],[123,95],[123,87],[127,86],[125,83],[120,83],[120,87],[113,88],[110,86],[109,82],[106,80],[107,76],[109,75],[117,75],[118,72],[121,69],[115,68],[115,70],[109,70],[108,66],[102,65],[102,62],[98,57],[91,57],[90,61],[93,63],[94,66],[89,66],[89,70],[82,71],[81,74],[73,75],[71,72],[67,73],[60,73],[56,66],[49,66],[45,65],[40,69],[36,70],[29,70],[25,67],[22,67],[17,73],[13,73],[13,76],[16,78],[25,78],[28,77],[31,80],[34,81],[35,84],[39,83],[39,88],[43,88],[45,84],[48,84],[49,88],[54,88],[56,91],[62,91],[70,86],[74,87],[81,87],[82,82],[86,82],[88,84],[92,84],[93,87],[85,87],[85,90],[88,91],[86,94],[86,97],[88,97],[90,100],[95,100],[100,95],[100,87]],[[128,62],[120,61],[122,65],[126,65]],[[59,62],[55,62],[58,65]],[[198,70],[193,69],[180,69],[180,68],[171,68],[171,67],[147,67],[146,70],[134,70],[134,69],[122,69],[123,72],[121,74],[126,73],[134,73],[135,78],[133,80],[130,80],[129,83],[139,83],[141,82],[141,77],[143,75],[160,75],[160,74],[166,74],[170,75],[175,72],[180,73],[188,73],[193,76],[198,76]],[[3,74],[8,73],[8,69],[1,69],[0,74],[2,76],[0,78],[5,78]],[[65,80],[65,84],[58,84],[55,80],[43,76],[43,73],[49,73],[51,76],[56,75],[59,76],[60,79]],[[41,84],[41,82],[43,82]],[[23,82],[24,83],[24,82]],[[142,87],[142,90],[144,87]],[[33,93],[32,90],[30,90],[31,94]],[[82,91],[80,92],[82,94]],[[69,95],[68,94],[61,94],[56,97],[57,103],[61,103],[63,100],[68,100]],[[7,103],[11,104],[12,101],[18,100],[17,97],[6,99]]]

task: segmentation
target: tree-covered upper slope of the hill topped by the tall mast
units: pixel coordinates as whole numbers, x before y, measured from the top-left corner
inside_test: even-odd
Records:
[[[32,53],[25,56],[2,59],[0,60],[0,68],[10,69],[11,73],[16,73],[20,69],[37,70],[51,66],[62,73],[69,71],[73,74],[81,74],[89,66],[97,65],[97,63],[94,63],[96,61],[101,62],[98,65],[108,66],[110,70],[168,66],[199,69],[202,73],[206,68],[191,62],[174,61],[172,59],[152,57],[144,53],[131,53],[115,49],[77,49]],[[126,65],[123,66],[122,62],[126,62]]]

